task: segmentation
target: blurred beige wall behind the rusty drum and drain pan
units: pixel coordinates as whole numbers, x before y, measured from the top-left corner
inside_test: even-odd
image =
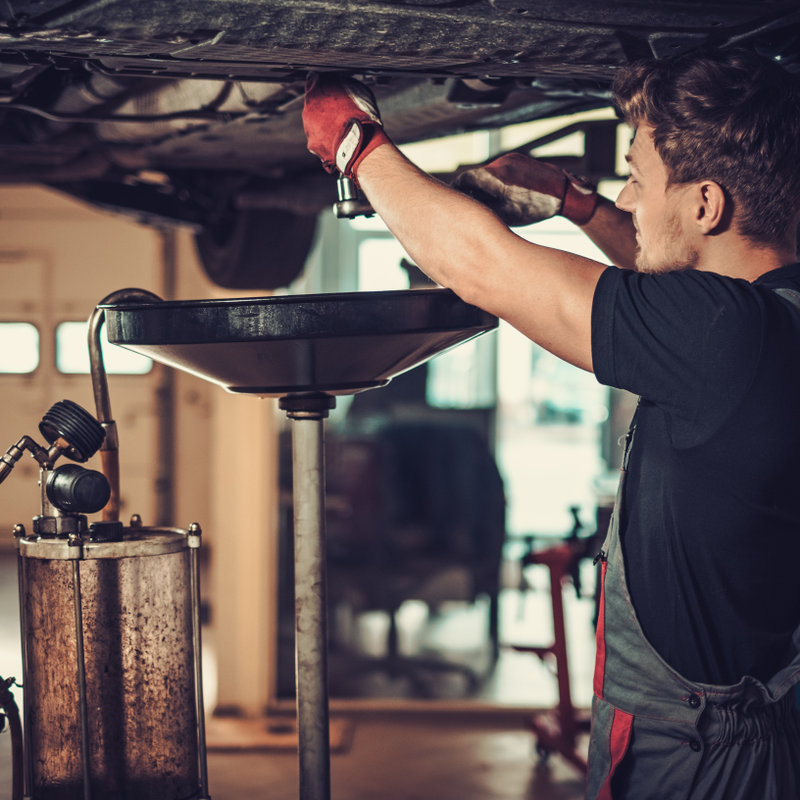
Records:
[[[88,319],[96,303],[125,287],[162,297],[174,291],[176,299],[231,294],[204,278],[186,230],[162,234],[49,190],[0,189],[0,321],[33,322],[41,341],[34,373],[0,375],[0,451],[23,434],[43,443],[38,422],[58,400],[94,413],[89,376],[56,370],[53,332],[58,322]],[[203,528],[207,639],[217,654],[209,662],[217,680],[207,708],[260,713],[274,660],[275,402],[228,395],[162,367],[145,376],[110,375],[109,388],[122,519],[138,513],[145,524],[185,528],[196,521]],[[174,443],[158,439],[165,392]],[[99,469],[99,458],[87,466]],[[37,479],[26,455],[0,486],[0,549],[13,547],[14,523],[29,527],[38,513]],[[171,519],[156,519],[165,512]]]

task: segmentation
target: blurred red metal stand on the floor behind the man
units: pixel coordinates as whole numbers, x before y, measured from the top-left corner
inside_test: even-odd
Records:
[[[534,714],[529,725],[536,736],[536,752],[544,761],[551,753],[559,753],[567,761],[586,772],[586,759],[576,749],[581,733],[589,731],[589,717],[579,715],[572,705],[567,661],[567,637],[564,625],[563,585],[578,559],[585,555],[585,541],[571,540],[539,552],[530,552],[523,566],[544,564],[550,571],[550,597],[553,606],[554,642],[549,647],[512,645],[520,653],[534,653],[546,662],[546,656],[555,657],[555,675],[558,680],[558,705],[555,709]]]

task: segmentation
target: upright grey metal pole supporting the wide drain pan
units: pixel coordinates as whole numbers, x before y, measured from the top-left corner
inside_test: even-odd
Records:
[[[331,793],[323,419],[334,402],[329,395],[281,399],[292,420],[300,800],[329,800]]]

